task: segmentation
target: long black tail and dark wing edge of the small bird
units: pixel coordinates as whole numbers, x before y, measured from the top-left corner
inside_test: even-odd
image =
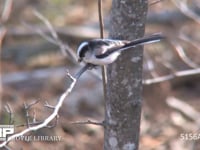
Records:
[[[104,58],[106,56],[109,56],[110,54],[116,52],[116,51],[123,51],[132,47],[136,47],[139,45],[145,45],[145,44],[150,44],[150,43],[155,43],[155,42],[159,42],[160,40],[165,39],[165,36],[163,36],[160,33],[157,34],[152,34],[150,36],[146,36],[146,37],[142,37],[136,40],[133,40],[127,44],[125,44],[124,46],[122,46],[121,48],[116,48],[116,49],[112,49],[110,51],[107,51],[104,54],[98,55],[98,58]]]

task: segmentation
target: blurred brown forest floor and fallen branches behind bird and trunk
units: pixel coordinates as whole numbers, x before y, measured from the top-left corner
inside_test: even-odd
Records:
[[[0,1],[0,124],[14,123],[19,126],[16,131],[21,131],[26,128],[24,105],[37,101],[29,109],[30,118],[44,120],[52,112],[44,104],[55,105],[69,85],[67,71],[75,74],[80,69],[58,45],[41,36],[42,33],[51,37],[51,33],[34,10],[53,25],[59,42],[76,52],[81,41],[99,37],[98,9],[94,0],[7,0],[6,6],[5,2]],[[140,149],[197,150],[200,149],[200,2],[154,2],[149,0],[146,35],[162,32],[168,39],[145,46]],[[110,8],[111,0],[104,0],[106,36]],[[102,82],[96,76],[101,73],[92,72],[81,76],[59,112],[56,127],[30,133],[59,135],[60,142],[18,141],[10,142],[9,147],[103,149],[102,127],[72,124],[104,118]],[[166,81],[158,82],[162,80]],[[198,134],[199,140],[181,138],[182,134],[187,138],[189,133]]]

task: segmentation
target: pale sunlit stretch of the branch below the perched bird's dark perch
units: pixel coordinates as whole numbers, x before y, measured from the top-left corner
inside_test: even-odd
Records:
[[[59,100],[58,100],[58,103],[56,104],[55,109],[54,109],[54,111],[52,112],[52,114],[51,114],[48,118],[46,118],[46,119],[44,120],[44,122],[42,122],[41,124],[36,125],[36,126],[29,127],[29,128],[27,128],[27,129],[23,130],[22,132],[16,133],[16,134],[14,134],[14,135],[8,137],[8,139],[7,139],[6,141],[4,141],[4,142],[2,142],[2,143],[0,144],[0,148],[4,147],[9,141],[15,139],[16,137],[22,136],[22,135],[24,135],[24,134],[26,134],[26,133],[28,133],[28,132],[30,132],[30,131],[36,131],[36,130],[38,130],[38,129],[41,129],[41,128],[44,128],[44,127],[47,127],[47,126],[48,126],[48,124],[58,115],[58,111],[60,110],[60,108],[61,108],[61,106],[62,106],[64,100],[65,100],[66,97],[72,92],[74,86],[76,85],[76,82],[77,82],[76,78],[74,78],[74,77],[73,77],[72,75],[70,75],[69,73],[68,73],[68,76],[72,79],[72,83],[71,83],[71,85],[69,86],[69,88],[60,96],[60,98],[59,98]]]

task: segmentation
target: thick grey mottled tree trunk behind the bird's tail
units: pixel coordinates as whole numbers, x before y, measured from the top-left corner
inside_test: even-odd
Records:
[[[110,38],[133,40],[144,35],[147,0],[113,0]],[[124,52],[107,67],[105,150],[136,150],[142,107],[143,47]]]

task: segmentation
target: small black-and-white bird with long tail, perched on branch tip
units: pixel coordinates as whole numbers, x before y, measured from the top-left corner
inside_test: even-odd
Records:
[[[163,39],[161,34],[142,37],[133,41],[113,39],[93,39],[80,44],[77,50],[79,62],[93,65],[107,65],[113,63],[120,53],[138,45],[158,42]]]

